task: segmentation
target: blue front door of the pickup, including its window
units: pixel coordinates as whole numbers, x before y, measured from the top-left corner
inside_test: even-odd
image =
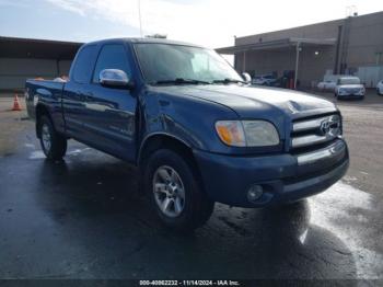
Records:
[[[85,93],[84,128],[96,148],[118,158],[134,161],[136,154],[137,99],[127,89],[100,84],[100,72],[118,69],[131,79],[131,66],[124,44],[106,44],[98,54],[92,81]]]

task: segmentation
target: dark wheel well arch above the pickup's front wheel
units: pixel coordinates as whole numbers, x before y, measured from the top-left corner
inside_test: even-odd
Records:
[[[187,159],[188,163],[199,173],[197,161],[193,154],[192,148],[184,141],[167,135],[155,135],[144,141],[138,159],[139,167],[143,168],[146,160],[150,154],[159,149],[170,149],[177,152],[179,156]]]

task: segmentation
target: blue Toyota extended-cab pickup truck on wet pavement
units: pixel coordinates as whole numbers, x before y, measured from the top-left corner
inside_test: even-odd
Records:
[[[328,188],[349,164],[333,103],[251,87],[213,50],[195,45],[85,44],[68,81],[28,80],[25,95],[47,159],[61,159],[72,138],[131,163],[173,229],[201,226],[216,202],[297,202]]]

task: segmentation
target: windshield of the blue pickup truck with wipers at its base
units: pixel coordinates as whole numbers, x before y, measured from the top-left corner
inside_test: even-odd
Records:
[[[216,51],[182,45],[136,44],[148,83],[242,82],[237,72]],[[182,79],[182,81],[181,81]]]

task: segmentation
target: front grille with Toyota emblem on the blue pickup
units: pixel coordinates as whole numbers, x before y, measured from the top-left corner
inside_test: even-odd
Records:
[[[300,118],[292,123],[290,149],[293,152],[315,150],[334,141],[340,135],[339,114]]]

